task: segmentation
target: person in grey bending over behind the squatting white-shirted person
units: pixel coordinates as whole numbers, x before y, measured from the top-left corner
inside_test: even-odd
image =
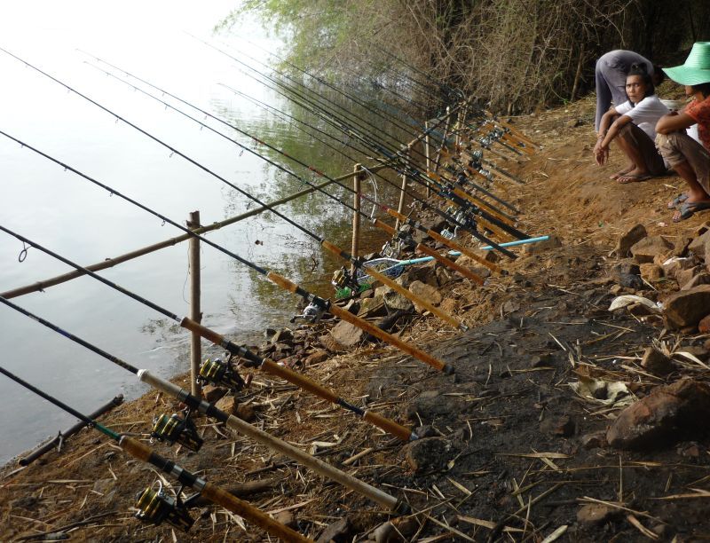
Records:
[[[602,116],[609,111],[611,101],[620,106],[627,101],[625,85],[632,64],[644,64],[646,73],[654,76],[651,60],[634,51],[617,49],[605,53],[596,61],[596,117],[595,130],[599,131]],[[655,82],[654,82],[655,83]]]

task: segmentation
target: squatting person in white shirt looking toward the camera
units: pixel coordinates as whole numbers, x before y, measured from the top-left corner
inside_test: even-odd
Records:
[[[602,116],[594,154],[600,166],[609,158],[609,146],[616,140],[628,158],[628,166],[611,176],[619,183],[644,181],[666,172],[666,165],[656,150],[656,122],[668,113],[655,94],[646,67],[635,64],[627,75],[628,100],[612,107]]]

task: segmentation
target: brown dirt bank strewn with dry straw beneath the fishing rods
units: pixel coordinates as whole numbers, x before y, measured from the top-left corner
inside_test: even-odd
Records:
[[[398,334],[455,368],[446,375],[382,344],[332,354],[296,369],[352,403],[406,424],[426,439],[403,445],[375,427],[288,384],[254,374],[237,393],[244,416],[280,439],[408,503],[412,515],[389,515],[374,502],[313,474],[246,437],[199,418],[199,453],[156,443],[155,449],[304,535],[335,541],[699,541],[710,539],[710,439],[706,421],[691,437],[635,452],[606,445],[604,431],[623,406],[655,386],[704,366],[681,364],[665,378],[639,366],[651,344],[679,350],[707,336],[671,333],[660,319],[608,310],[615,288],[610,256],[619,234],[643,224],[649,235],[681,239],[710,218],[671,222],[667,201],[678,177],[619,185],[623,166],[593,163],[593,103],[515,119],[541,145],[529,161],[498,163],[525,180],[501,182],[499,195],[521,209],[518,228],[556,235],[561,247],[521,251],[501,261],[509,271],[485,286],[452,279],[438,287],[443,307],[466,332],[416,317]],[[487,156],[487,155],[485,155]],[[677,289],[659,281],[636,292],[651,300]],[[304,328],[317,338],[328,323]],[[315,340],[313,340],[315,341]],[[309,350],[315,344],[308,345]],[[617,397],[589,397],[571,383],[603,380]],[[185,385],[185,376],[176,382]],[[102,419],[147,440],[155,414],[176,410],[151,393]],[[252,413],[253,412],[253,413]],[[61,453],[0,471],[0,539],[101,541],[261,541],[264,531],[207,503],[191,509],[184,533],[133,518],[135,496],[158,478],[95,431],[70,439]],[[241,484],[262,481],[261,490]],[[190,491],[186,491],[187,494]],[[598,519],[580,517],[599,506]],[[589,508],[585,509],[589,511]],[[594,516],[594,515],[592,515]],[[392,520],[392,524],[384,524]],[[390,528],[394,526],[395,528]],[[390,530],[389,533],[386,533]],[[325,539],[327,540],[327,539]]]

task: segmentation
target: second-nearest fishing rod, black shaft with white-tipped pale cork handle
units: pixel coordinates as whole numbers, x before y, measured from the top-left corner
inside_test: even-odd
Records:
[[[0,296],[0,303],[3,303],[15,311],[19,311],[29,319],[33,319],[37,323],[43,325],[43,327],[47,327],[57,334],[63,335],[68,340],[78,343],[85,349],[91,350],[100,357],[106,358],[110,362],[113,362],[115,365],[121,366],[123,369],[128,370],[131,374],[137,375],[140,382],[145,382],[155,390],[159,390],[167,396],[174,397],[181,404],[187,405],[188,409],[194,412],[202,413],[210,419],[222,422],[227,428],[233,429],[242,436],[249,437],[257,443],[265,445],[272,451],[287,456],[291,460],[296,460],[296,462],[307,468],[311,468],[320,476],[324,476],[338,484],[342,484],[351,491],[358,492],[360,495],[365,496],[368,500],[373,500],[375,503],[379,503],[384,508],[388,508],[392,511],[398,511],[400,513],[404,513],[408,510],[406,503],[403,503],[401,500],[397,500],[397,498],[391,496],[387,492],[383,492],[371,484],[360,481],[358,478],[351,476],[342,470],[331,466],[330,464],[327,464],[323,460],[315,458],[311,454],[305,453],[301,449],[298,449],[294,445],[288,444],[278,437],[273,437],[272,435],[264,432],[264,430],[258,429],[256,426],[253,426],[246,421],[242,421],[239,417],[235,417],[234,415],[225,413],[221,409],[217,409],[215,405],[209,404],[209,402],[201,399],[201,397],[193,396],[189,391],[180,389],[180,387],[176,384],[166,381],[146,369],[138,369],[138,367],[130,365],[121,358],[114,357],[114,355],[106,352],[106,350],[102,350],[96,345],[83,340],[81,337],[67,332],[67,330],[64,330],[56,324],[51,323],[49,320],[43,319],[35,313],[20,307],[16,303],[12,303],[3,296]]]

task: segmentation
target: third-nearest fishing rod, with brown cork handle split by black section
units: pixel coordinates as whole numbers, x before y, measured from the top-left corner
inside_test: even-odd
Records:
[[[263,371],[266,374],[271,374],[276,377],[279,377],[281,379],[284,379],[288,382],[291,382],[298,386],[299,388],[306,390],[308,392],[311,392],[313,395],[321,397],[323,399],[326,399],[327,401],[331,402],[332,404],[335,405],[340,405],[343,407],[343,409],[347,409],[348,411],[351,411],[351,413],[355,413],[358,415],[360,418],[363,420],[374,424],[375,426],[384,429],[385,431],[390,432],[392,435],[398,437],[399,439],[402,439],[403,441],[410,441],[412,439],[415,439],[416,437],[414,434],[409,430],[406,429],[404,426],[401,426],[395,421],[390,421],[389,419],[384,418],[382,415],[378,413],[371,413],[364,411],[360,409],[357,405],[353,405],[346,400],[344,400],[342,397],[338,397],[335,392],[332,390],[328,390],[327,388],[323,387],[322,385],[319,385],[316,382],[313,382],[310,380],[308,377],[302,375],[302,374],[296,374],[293,370],[289,369],[286,366],[280,366],[279,364],[273,362],[272,360],[269,360],[268,358],[262,358],[258,356],[255,352],[248,350],[246,347],[241,346],[241,345],[236,345],[233,342],[230,342],[229,340],[226,340],[224,336],[217,334],[213,330],[210,330],[207,327],[202,327],[200,324],[195,322],[192,319],[188,319],[187,317],[180,318],[177,316],[177,314],[161,307],[160,305],[153,303],[146,298],[137,295],[130,290],[121,287],[120,285],[114,283],[113,281],[110,281],[108,279],[105,279],[101,277],[98,273],[95,273],[94,271],[90,271],[86,268],[83,268],[79,264],[75,264],[71,260],[65,258],[64,256],[60,256],[57,253],[51,251],[48,248],[45,248],[38,243],[36,243],[33,240],[29,240],[28,238],[21,236],[17,232],[12,232],[12,230],[4,227],[2,224],[0,224],[0,231],[5,232],[14,238],[17,238],[18,240],[22,241],[23,243],[27,243],[31,247],[37,248],[41,250],[43,253],[52,256],[53,258],[56,258],[59,260],[59,262],[62,262],[64,264],[67,264],[77,271],[82,271],[86,275],[91,276],[93,279],[97,279],[100,282],[104,283],[107,287],[114,288],[114,290],[117,290],[120,292],[122,295],[127,295],[133,300],[136,300],[139,303],[143,303],[144,305],[147,305],[154,311],[157,311],[164,315],[165,317],[172,319],[176,321],[180,327],[184,327],[187,330],[190,330],[191,332],[196,332],[197,334],[200,334],[201,337],[205,338],[206,340],[213,342],[215,345],[220,346],[227,350],[232,357],[240,357],[244,358],[246,360],[244,366],[246,367],[253,367],[258,370]],[[220,368],[213,367],[214,365],[207,365],[206,367],[201,368],[201,376],[202,377],[209,377],[211,374],[214,374],[217,372],[217,370],[220,370]],[[225,367],[225,370],[231,369],[230,367]],[[218,372],[221,374],[221,370]],[[246,383],[241,379],[241,376],[235,372],[232,372],[232,375],[230,376],[231,378],[228,379],[227,381],[229,384],[231,384],[235,388],[242,388]],[[220,383],[221,384],[221,383]],[[170,424],[169,421],[163,421],[164,424]],[[160,432],[159,432],[160,435]],[[175,440],[173,440],[175,441]],[[186,445],[191,445],[191,444],[186,444]],[[201,445],[201,444],[200,444]],[[196,449],[200,448],[200,445],[197,445]],[[194,450],[193,448],[193,450]]]

